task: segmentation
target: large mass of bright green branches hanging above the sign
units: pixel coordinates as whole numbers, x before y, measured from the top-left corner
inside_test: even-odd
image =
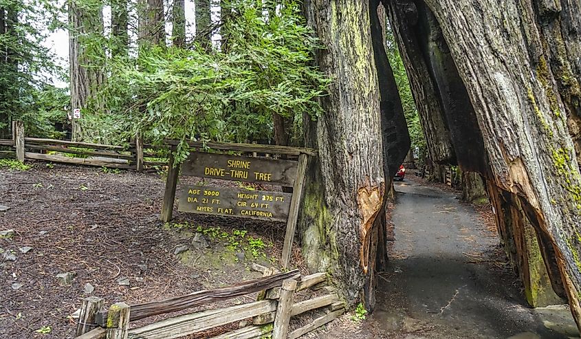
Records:
[[[210,51],[194,42],[187,49],[147,45],[137,57],[114,56],[107,61],[107,85],[84,124],[120,139],[140,130],[155,142],[182,140],[179,162],[190,140],[272,140],[273,114],[317,118],[318,98],[330,83],[311,66],[319,42],[298,1],[265,15],[269,3],[274,5],[272,0],[227,5],[223,43]]]

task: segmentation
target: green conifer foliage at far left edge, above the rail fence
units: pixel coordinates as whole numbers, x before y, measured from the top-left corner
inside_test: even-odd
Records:
[[[66,119],[68,94],[56,89],[47,74],[63,77],[63,69],[41,42],[61,24],[61,8],[48,0],[0,0],[6,32],[0,34],[0,131],[10,120],[23,120],[28,133],[59,136],[55,122]],[[0,28],[1,31],[1,28]]]

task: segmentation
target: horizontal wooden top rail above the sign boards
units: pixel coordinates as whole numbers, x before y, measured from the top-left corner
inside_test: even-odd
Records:
[[[176,146],[179,144],[178,140],[165,140],[168,145]],[[223,151],[240,151],[240,152],[258,152],[258,153],[272,153],[285,155],[300,155],[307,154],[316,156],[317,151],[314,149],[305,149],[292,146],[275,146],[275,145],[261,145],[261,144],[234,144],[229,142],[188,142],[188,144],[195,149],[220,149]]]

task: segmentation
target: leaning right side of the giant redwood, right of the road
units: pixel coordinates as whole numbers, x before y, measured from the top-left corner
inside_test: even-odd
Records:
[[[581,173],[575,152],[581,3],[396,3],[400,19],[406,13],[419,18],[419,34],[410,39],[421,45],[429,34],[432,54],[424,61],[439,88],[459,166],[518,196],[541,252],[553,255],[545,257],[556,262],[549,272],[558,268],[581,328]]]

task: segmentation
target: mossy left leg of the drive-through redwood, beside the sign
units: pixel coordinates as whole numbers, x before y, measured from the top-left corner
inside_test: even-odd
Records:
[[[386,185],[391,184],[386,173],[396,166],[386,157],[397,158],[394,142],[405,134],[398,122],[406,126],[401,103],[391,96],[397,87],[390,83],[393,75],[380,47],[380,20],[373,5],[351,0],[304,3],[309,25],[326,47],[318,54],[318,64],[335,81],[322,99],[325,114],[316,122],[305,119],[307,145],[319,155],[309,162],[299,229],[309,267],[331,270],[351,305],[362,290],[365,300],[373,302],[376,245],[379,228],[385,227]],[[408,151],[405,141],[397,166]]]

